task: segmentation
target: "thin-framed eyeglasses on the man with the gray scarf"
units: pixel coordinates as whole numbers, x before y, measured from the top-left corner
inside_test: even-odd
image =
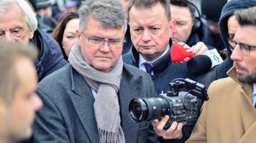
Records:
[[[107,44],[110,48],[120,49],[120,48],[122,48],[122,46],[125,42],[125,40],[121,40],[121,39],[105,40],[104,38],[101,38],[101,37],[86,36],[86,34],[84,34],[83,31],[81,31],[81,34],[84,37],[86,37],[86,39],[88,39],[88,43],[93,45],[93,47],[95,47],[95,48],[103,47],[105,42],[107,42]]]

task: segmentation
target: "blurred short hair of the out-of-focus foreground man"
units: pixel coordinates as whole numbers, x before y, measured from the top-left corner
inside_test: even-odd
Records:
[[[0,42],[0,98],[10,104],[14,96],[14,89],[19,85],[19,77],[14,70],[15,58],[27,56],[34,60],[37,51],[34,46],[25,45],[17,42]]]

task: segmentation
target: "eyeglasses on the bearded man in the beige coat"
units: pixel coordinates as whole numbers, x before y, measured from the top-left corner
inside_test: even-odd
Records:
[[[234,41],[234,39],[228,39],[228,41],[229,41],[229,48],[231,49],[231,51],[233,51],[234,47],[237,46],[238,44],[242,54],[244,54],[245,56],[248,56],[250,54],[250,51],[252,51],[252,49],[256,49],[256,46],[237,43],[237,41]]]

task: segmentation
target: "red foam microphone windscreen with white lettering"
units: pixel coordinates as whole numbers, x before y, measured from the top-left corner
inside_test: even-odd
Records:
[[[170,49],[170,58],[173,62],[184,62],[188,61],[193,57],[193,51],[190,46],[183,42],[173,44]]]

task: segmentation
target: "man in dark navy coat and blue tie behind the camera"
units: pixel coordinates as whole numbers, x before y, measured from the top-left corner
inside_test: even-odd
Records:
[[[195,77],[188,72],[186,63],[176,64],[170,59],[170,37],[175,29],[175,22],[170,17],[170,1],[132,0],[128,16],[134,46],[131,52],[124,54],[124,62],[147,71],[153,79],[157,94],[170,90],[169,83],[174,79]],[[167,121],[168,117],[160,124]],[[163,127],[157,126],[157,121],[154,124],[159,136],[171,136],[171,139],[166,140],[160,137],[161,142],[185,142],[193,128],[187,126],[182,129],[182,124],[173,122],[172,127],[165,132]]]

